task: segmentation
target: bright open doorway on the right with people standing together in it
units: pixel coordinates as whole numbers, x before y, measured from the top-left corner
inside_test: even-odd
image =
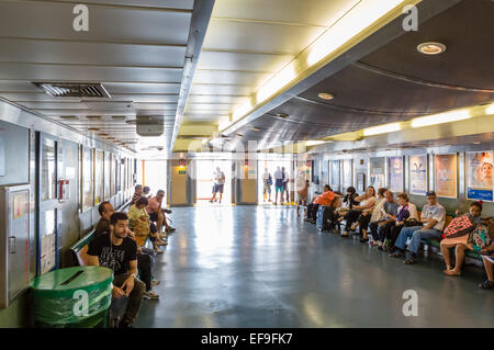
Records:
[[[280,204],[291,204],[293,196],[293,174],[292,174],[292,161],[291,160],[259,160],[258,161],[258,173],[259,180],[258,183],[258,203],[260,205],[273,205],[277,200],[277,190],[276,190],[276,177],[274,173],[278,168],[284,168],[284,177],[289,180],[288,187],[284,189],[283,193],[283,202],[281,202],[281,193],[278,193],[278,205]],[[263,177],[266,171],[271,174],[272,184],[267,187],[265,190],[265,181]],[[269,194],[269,190],[271,190],[271,195]]]

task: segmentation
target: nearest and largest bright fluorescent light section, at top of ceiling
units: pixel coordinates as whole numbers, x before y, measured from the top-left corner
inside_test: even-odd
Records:
[[[362,33],[379,19],[395,9],[404,0],[366,0],[360,1],[344,18],[326,31],[314,44],[307,56],[310,66],[334,53],[344,44]]]

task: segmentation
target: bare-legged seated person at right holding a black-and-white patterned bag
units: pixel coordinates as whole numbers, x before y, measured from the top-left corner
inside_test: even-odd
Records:
[[[453,233],[451,229],[451,235],[454,237],[446,236],[445,239],[441,240],[441,253],[445,258],[446,270],[444,271],[446,275],[461,275],[461,267],[464,261],[464,252],[465,250],[474,250],[472,236],[474,235],[474,230],[476,228],[486,228],[483,224],[482,219],[482,202],[473,202],[470,204],[469,214],[460,215],[459,219],[468,219],[471,225],[465,227],[462,225],[463,235],[459,236],[461,233]],[[445,233],[449,232],[449,228],[454,227],[457,218],[451,221],[449,226],[446,228]],[[483,227],[482,227],[483,226]],[[485,235],[484,235],[485,237]],[[486,237],[485,237],[486,238]],[[482,240],[481,240],[482,241]],[[486,242],[486,241],[485,241]],[[450,260],[450,249],[454,248],[456,263],[454,268],[451,267]],[[480,247],[482,249],[484,247]]]

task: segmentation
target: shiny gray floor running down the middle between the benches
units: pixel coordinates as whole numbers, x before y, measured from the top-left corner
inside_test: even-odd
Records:
[[[172,219],[161,300],[145,301],[137,327],[494,327],[480,268],[451,278],[437,258],[404,266],[291,207],[173,208]],[[405,290],[417,292],[416,317],[402,313]]]

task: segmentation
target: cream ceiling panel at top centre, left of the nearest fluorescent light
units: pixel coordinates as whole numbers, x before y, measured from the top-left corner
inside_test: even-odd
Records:
[[[360,0],[226,0],[216,1],[214,18],[256,19],[330,25]]]

